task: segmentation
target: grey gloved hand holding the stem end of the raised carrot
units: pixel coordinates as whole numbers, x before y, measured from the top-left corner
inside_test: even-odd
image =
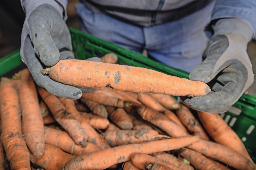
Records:
[[[26,20],[22,30],[21,59],[39,86],[59,97],[79,99],[82,91],[86,93],[95,90],[65,85],[41,74],[43,68],[52,66],[59,60],[74,59],[71,53],[69,30],[61,18],[59,5],[55,1],[52,2],[53,5],[37,6],[29,14],[25,9]],[[90,58],[90,60],[100,61],[97,57]]]

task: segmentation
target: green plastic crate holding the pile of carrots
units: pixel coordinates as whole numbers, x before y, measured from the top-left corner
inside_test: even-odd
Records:
[[[73,51],[77,59],[100,57],[106,53],[115,53],[118,63],[145,67],[165,74],[188,78],[189,73],[146,58],[143,55],[100,40],[79,30],[70,28]],[[19,50],[0,59],[0,76],[22,64]],[[221,115],[228,125],[243,140],[248,152],[256,162],[256,97],[243,95],[230,111]]]

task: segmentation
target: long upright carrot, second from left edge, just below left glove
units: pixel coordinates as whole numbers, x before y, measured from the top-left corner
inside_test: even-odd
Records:
[[[22,131],[29,150],[35,157],[44,153],[44,123],[38,102],[36,86],[28,69],[20,71],[19,88],[22,110]]]

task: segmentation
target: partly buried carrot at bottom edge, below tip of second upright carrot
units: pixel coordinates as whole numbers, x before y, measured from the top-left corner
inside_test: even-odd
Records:
[[[74,155],[70,155],[66,152],[63,152],[59,148],[45,144],[45,151],[42,157],[35,158],[30,154],[30,160],[32,163],[41,166],[45,170],[57,170],[70,159],[74,158]]]

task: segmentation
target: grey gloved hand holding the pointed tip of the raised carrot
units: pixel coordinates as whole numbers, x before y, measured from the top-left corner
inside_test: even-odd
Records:
[[[226,112],[252,85],[254,74],[247,43],[253,28],[243,19],[221,19],[203,57],[205,60],[189,75],[190,80],[207,83],[212,91],[206,96],[181,97],[191,108],[210,113]]]

